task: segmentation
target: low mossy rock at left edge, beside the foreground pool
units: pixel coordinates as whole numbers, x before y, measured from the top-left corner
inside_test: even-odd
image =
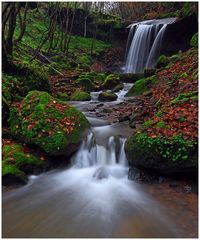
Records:
[[[28,152],[21,144],[8,142],[2,148],[3,185],[25,184],[27,174],[42,168],[44,161]]]

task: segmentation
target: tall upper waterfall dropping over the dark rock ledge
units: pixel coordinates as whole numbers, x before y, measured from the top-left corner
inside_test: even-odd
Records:
[[[153,19],[128,26],[125,72],[143,73],[144,68],[155,67],[166,27],[175,20]]]

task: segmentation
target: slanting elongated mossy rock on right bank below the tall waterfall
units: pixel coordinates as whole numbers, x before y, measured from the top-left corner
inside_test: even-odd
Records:
[[[126,97],[142,94],[148,91],[150,86],[152,86],[156,82],[157,78],[155,75],[148,78],[142,78],[135,82],[135,84],[127,92]]]

